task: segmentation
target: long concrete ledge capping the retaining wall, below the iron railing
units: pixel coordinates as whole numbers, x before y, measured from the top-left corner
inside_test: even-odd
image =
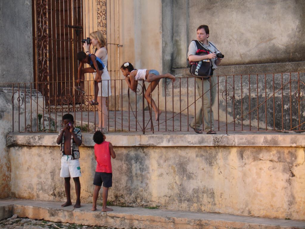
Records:
[[[11,133],[6,136],[6,146],[58,146],[56,133]],[[83,134],[85,147],[94,146],[92,133]],[[182,147],[182,146],[250,146],[250,147],[305,147],[304,133],[257,134],[135,134],[107,133],[107,141],[117,147]]]

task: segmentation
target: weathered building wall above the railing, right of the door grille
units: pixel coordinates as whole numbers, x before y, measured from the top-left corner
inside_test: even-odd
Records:
[[[130,61],[163,73],[185,68],[188,44],[196,39],[196,28],[207,24],[210,40],[225,55],[221,65],[235,66],[224,71],[304,70],[304,64],[280,64],[305,60],[302,1],[124,0],[119,6],[120,64]],[[268,64],[275,65],[268,71]]]

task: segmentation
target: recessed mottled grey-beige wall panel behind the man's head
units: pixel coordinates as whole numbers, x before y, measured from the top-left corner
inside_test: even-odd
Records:
[[[223,65],[305,60],[302,1],[188,0],[188,9],[189,41],[199,24],[209,25],[210,40],[225,54]]]

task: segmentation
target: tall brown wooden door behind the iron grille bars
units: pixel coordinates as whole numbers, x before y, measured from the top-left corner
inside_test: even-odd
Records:
[[[79,102],[74,97],[76,54],[81,50],[81,0],[48,0],[50,105]]]

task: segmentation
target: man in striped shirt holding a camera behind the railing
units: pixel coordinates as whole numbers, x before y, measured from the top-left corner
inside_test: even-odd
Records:
[[[211,73],[210,76],[213,75],[213,70],[217,68],[217,65],[220,64],[223,55],[216,54],[218,49],[212,42],[208,41],[209,37],[209,27],[207,25],[200,25],[197,28],[197,41],[204,49],[210,51],[207,55],[196,55],[197,45],[195,41],[192,41],[188,46],[188,60],[190,62],[198,62],[200,60],[210,60],[212,62],[211,65]],[[207,134],[216,134],[216,132],[212,129],[214,124],[213,118],[213,110],[212,106],[214,104],[217,92],[217,78],[210,77],[207,79],[204,78],[196,78],[196,85],[198,89],[199,96],[203,96],[203,106],[200,106],[196,113],[196,118],[190,123],[190,127],[194,129],[196,133],[202,133],[200,126],[202,125],[202,113],[204,118],[204,130]],[[203,111],[203,112],[202,112]],[[195,121],[196,120],[196,121]]]

